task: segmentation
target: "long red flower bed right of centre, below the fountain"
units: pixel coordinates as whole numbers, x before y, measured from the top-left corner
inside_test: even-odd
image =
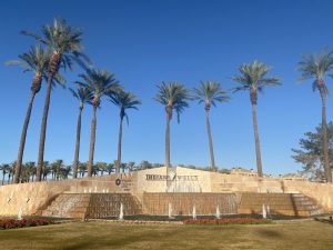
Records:
[[[221,219],[189,219],[183,220],[184,224],[263,224],[270,223],[269,220],[254,218],[221,218]]]

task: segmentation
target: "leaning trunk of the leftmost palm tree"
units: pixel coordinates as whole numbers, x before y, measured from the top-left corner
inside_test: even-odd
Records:
[[[31,94],[30,94],[29,106],[28,106],[28,110],[27,110],[27,113],[26,113],[26,119],[24,119],[22,132],[21,132],[20,147],[19,147],[19,152],[18,152],[18,160],[17,160],[16,171],[14,171],[14,183],[19,183],[19,179],[20,179],[24,146],[26,146],[26,138],[27,138],[27,131],[28,131],[28,127],[29,127],[29,121],[30,121],[30,116],[31,116],[31,110],[32,110],[32,104],[33,104],[34,97],[36,97],[36,91],[32,90]]]

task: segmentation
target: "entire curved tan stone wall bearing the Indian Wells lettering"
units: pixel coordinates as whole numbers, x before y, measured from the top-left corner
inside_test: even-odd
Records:
[[[165,176],[164,167],[127,174],[81,178],[67,181],[9,184],[0,187],[0,216],[38,213],[62,192],[131,192],[142,200],[143,192],[165,192],[167,182],[147,180],[147,174]],[[333,184],[309,181],[290,181],[274,178],[260,179],[235,174],[176,168],[176,176],[198,176],[198,180],[176,182],[176,190],[198,192],[300,192],[316,200],[326,211],[333,212]],[[121,179],[119,186],[115,180]]]

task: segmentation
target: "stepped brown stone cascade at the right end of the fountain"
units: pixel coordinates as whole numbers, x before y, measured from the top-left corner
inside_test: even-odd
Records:
[[[242,193],[239,213],[262,213],[262,206],[269,206],[271,214],[309,217],[320,214],[321,209],[302,193]]]

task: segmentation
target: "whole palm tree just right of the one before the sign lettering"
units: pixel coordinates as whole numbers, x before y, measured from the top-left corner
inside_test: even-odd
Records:
[[[205,122],[206,122],[206,132],[209,137],[210,154],[211,154],[211,169],[216,170],[215,160],[214,160],[214,150],[213,150],[213,140],[211,133],[210,124],[210,110],[213,104],[216,107],[216,102],[226,102],[229,97],[226,92],[221,89],[220,83],[206,81],[201,82],[200,88],[194,88],[195,99],[199,100],[199,103],[204,103],[205,110]]]

